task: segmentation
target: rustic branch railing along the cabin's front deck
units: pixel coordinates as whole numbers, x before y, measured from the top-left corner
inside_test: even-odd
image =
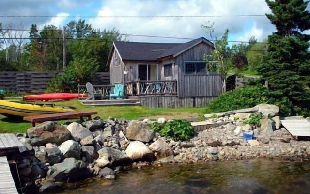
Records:
[[[136,95],[177,95],[177,81],[159,80],[159,81],[136,81]],[[134,88],[133,86],[127,87]],[[132,91],[130,91],[132,92]]]

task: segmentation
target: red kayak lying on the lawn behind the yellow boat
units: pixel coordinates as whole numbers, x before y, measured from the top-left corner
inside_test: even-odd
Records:
[[[39,94],[39,95],[28,95],[24,96],[25,100],[71,100],[78,97],[87,97],[83,94],[71,94],[71,93],[50,93],[50,94]]]

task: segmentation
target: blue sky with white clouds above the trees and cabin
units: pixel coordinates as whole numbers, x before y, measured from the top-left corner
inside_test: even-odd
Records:
[[[310,7],[310,6],[308,6]],[[74,16],[76,18],[0,18],[28,29],[31,23],[63,26],[80,16],[219,16],[262,15],[270,13],[264,0],[1,0],[1,16]],[[83,19],[83,18],[82,18]],[[93,28],[116,28],[124,34],[199,38],[210,36],[201,27],[215,23],[214,37],[226,28],[229,39],[248,41],[255,36],[262,41],[275,29],[265,16],[195,17],[195,18],[85,18]],[[5,28],[5,27],[4,27]],[[181,39],[126,36],[129,41],[185,42]]]

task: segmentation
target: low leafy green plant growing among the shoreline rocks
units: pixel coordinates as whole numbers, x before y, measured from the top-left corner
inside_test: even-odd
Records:
[[[185,119],[175,119],[165,124],[154,123],[151,128],[161,136],[175,141],[186,141],[195,135],[194,127]]]

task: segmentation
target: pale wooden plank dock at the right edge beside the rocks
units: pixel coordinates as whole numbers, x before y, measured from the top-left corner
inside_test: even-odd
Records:
[[[286,118],[281,123],[296,139],[310,137],[310,122],[306,119]]]

